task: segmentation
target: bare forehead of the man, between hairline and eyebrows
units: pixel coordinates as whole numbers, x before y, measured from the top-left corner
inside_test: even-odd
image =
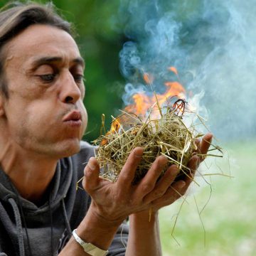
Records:
[[[77,44],[70,34],[48,25],[32,25],[7,43],[9,57],[72,59],[83,64]],[[8,57],[7,57],[8,58]]]

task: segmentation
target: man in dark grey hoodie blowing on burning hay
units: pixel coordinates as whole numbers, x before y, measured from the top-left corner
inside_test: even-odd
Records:
[[[99,177],[92,146],[80,142],[84,60],[70,24],[50,6],[2,11],[0,42],[0,255],[161,255],[157,212],[192,178],[174,182],[170,166],[158,181],[167,161],[159,156],[132,186],[142,148],[116,183]],[[211,137],[198,144],[202,153]],[[191,170],[200,161],[193,156]],[[87,192],[76,191],[83,175]]]

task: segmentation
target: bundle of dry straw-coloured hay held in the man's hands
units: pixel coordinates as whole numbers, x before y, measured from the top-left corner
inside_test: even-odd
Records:
[[[183,104],[185,105],[184,101]],[[183,122],[184,109],[181,109],[181,105],[175,103],[172,107],[159,108],[159,112],[159,118],[154,118],[154,114],[150,112],[144,121],[136,114],[128,112],[123,112],[122,116],[116,119],[113,118],[110,132],[94,141],[98,146],[95,156],[102,168],[102,177],[117,181],[129,154],[137,146],[144,148],[144,154],[137,167],[134,184],[145,176],[159,155],[167,157],[167,166],[179,166],[179,177],[188,175],[190,169],[187,164],[197,149],[196,138],[203,134],[198,134],[193,124],[186,127]],[[166,169],[163,174],[165,171]]]

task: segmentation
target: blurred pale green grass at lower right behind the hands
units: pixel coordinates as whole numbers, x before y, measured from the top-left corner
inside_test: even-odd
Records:
[[[225,159],[217,163],[208,161],[201,167],[201,171],[207,170],[207,173],[223,171],[229,174],[231,171],[233,176],[208,178],[212,188],[210,201],[210,186],[204,182],[201,188],[188,196],[188,203],[183,203],[182,208],[182,200],[179,200],[160,211],[164,256],[256,255],[256,139],[233,142],[224,148],[228,151]],[[200,210],[208,201],[201,219],[194,197]],[[176,213],[180,208],[181,213],[174,228]],[[179,245],[171,235],[173,229]]]

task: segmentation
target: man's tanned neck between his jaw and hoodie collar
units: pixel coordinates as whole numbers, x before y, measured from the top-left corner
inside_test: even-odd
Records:
[[[38,203],[43,198],[55,174],[57,161],[11,144],[2,148],[0,154],[1,167],[18,193],[34,203]]]

